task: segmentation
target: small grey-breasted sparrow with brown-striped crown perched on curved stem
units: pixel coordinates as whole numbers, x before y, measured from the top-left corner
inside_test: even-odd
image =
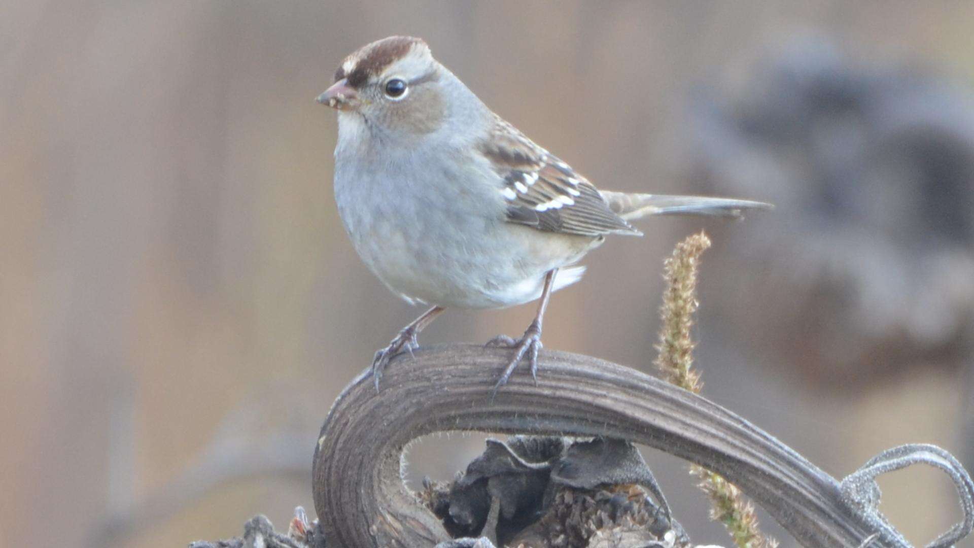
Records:
[[[431,308],[376,352],[390,359],[447,308],[538,300],[494,392],[527,358],[535,381],[544,310],[581,279],[606,236],[641,236],[646,215],[739,216],[748,200],[599,190],[495,114],[420,38],[391,36],[345,58],[318,102],[338,113],[335,202],[362,261],[393,294]]]

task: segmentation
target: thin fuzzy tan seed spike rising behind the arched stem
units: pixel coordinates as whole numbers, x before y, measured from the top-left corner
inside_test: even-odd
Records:
[[[696,273],[700,254],[710,247],[703,232],[677,244],[663,263],[666,289],[660,306],[662,327],[656,350],[656,367],[667,381],[699,394],[703,383],[693,371],[693,313],[697,308]],[[712,505],[710,517],[724,524],[739,548],[773,548],[777,541],[765,537],[758,528],[754,507],[740,491],[720,474],[692,464],[690,473],[700,480],[699,488],[707,493]]]

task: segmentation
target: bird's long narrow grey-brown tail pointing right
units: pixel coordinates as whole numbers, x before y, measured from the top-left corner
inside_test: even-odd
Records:
[[[625,220],[646,215],[741,216],[745,210],[770,210],[774,206],[751,200],[672,196],[668,194],[630,194],[603,190],[602,197],[612,211]]]

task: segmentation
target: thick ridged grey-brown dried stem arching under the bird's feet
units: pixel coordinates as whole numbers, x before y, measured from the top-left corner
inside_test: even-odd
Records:
[[[401,479],[401,452],[433,432],[606,436],[713,470],[808,547],[859,546],[877,532],[839,483],[750,422],[669,383],[596,358],[539,356],[491,400],[504,349],[447,345],[400,356],[376,393],[365,373],[335,402],[315,451],[318,527],[329,548],[433,546],[448,535]],[[881,535],[872,546],[906,546]]]

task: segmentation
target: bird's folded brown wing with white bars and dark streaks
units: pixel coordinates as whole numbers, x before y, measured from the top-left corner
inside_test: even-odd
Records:
[[[501,176],[508,222],[539,230],[599,237],[640,232],[612,211],[588,179],[498,118],[479,146]]]

